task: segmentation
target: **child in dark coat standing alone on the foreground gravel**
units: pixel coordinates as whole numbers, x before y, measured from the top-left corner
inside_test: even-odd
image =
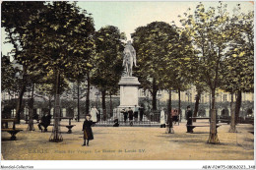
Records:
[[[93,131],[92,131],[92,125],[93,125],[93,121],[91,120],[91,115],[90,114],[87,114],[86,115],[86,120],[83,124],[83,131],[84,131],[84,145],[88,145],[89,146],[89,141],[90,140],[94,140],[94,134],[93,134]],[[86,143],[87,141],[87,143]]]

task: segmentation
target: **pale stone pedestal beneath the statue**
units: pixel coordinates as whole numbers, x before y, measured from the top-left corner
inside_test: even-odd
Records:
[[[136,77],[122,77],[120,85],[120,106],[118,108],[134,108],[139,104],[139,85]]]

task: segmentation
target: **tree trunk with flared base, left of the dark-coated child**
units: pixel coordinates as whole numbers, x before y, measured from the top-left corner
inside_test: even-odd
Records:
[[[62,142],[62,136],[60,132],[60,71],[56,71],[56,92],[54,102],[54,126],[49,142]]]

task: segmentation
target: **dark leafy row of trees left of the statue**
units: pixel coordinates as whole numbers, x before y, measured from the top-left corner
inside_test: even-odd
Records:
[[[2,78],[5,79],[2,90],[19,92],[16,108],[18,121],[26,90],[47,94],[49,103],[55,96],[55,109],[59,112],[59,95],[69,89],[69,83],[77,85],[79,105],[80,85],[86,82],[87,113],[90,85],[96,85],[104,94],[102,107],[105,109],[105,94],[117,91],[116,83],[122,74],[121,40],[125,39],[125,34],[113,26],[96,31],[91,15],[75,2],[2,3],[2,27],[7,33],[6,42],[14,46],[11,55],[23,66],[20,70],[22,79],[19,80],[14,77],[11,63],[2,60],[2,65],[6,66],[2,68]],[[15,84],[12,80],[19,80],[19,83]]]

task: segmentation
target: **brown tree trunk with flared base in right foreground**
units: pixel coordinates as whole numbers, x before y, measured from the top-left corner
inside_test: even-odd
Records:
[[[215,108],[215,88],[212,88],[212,109],[211,109],[211,121],[210,121],[210,135],[209,143],[219,143],[219,138],[217,135],[217,110]]]

